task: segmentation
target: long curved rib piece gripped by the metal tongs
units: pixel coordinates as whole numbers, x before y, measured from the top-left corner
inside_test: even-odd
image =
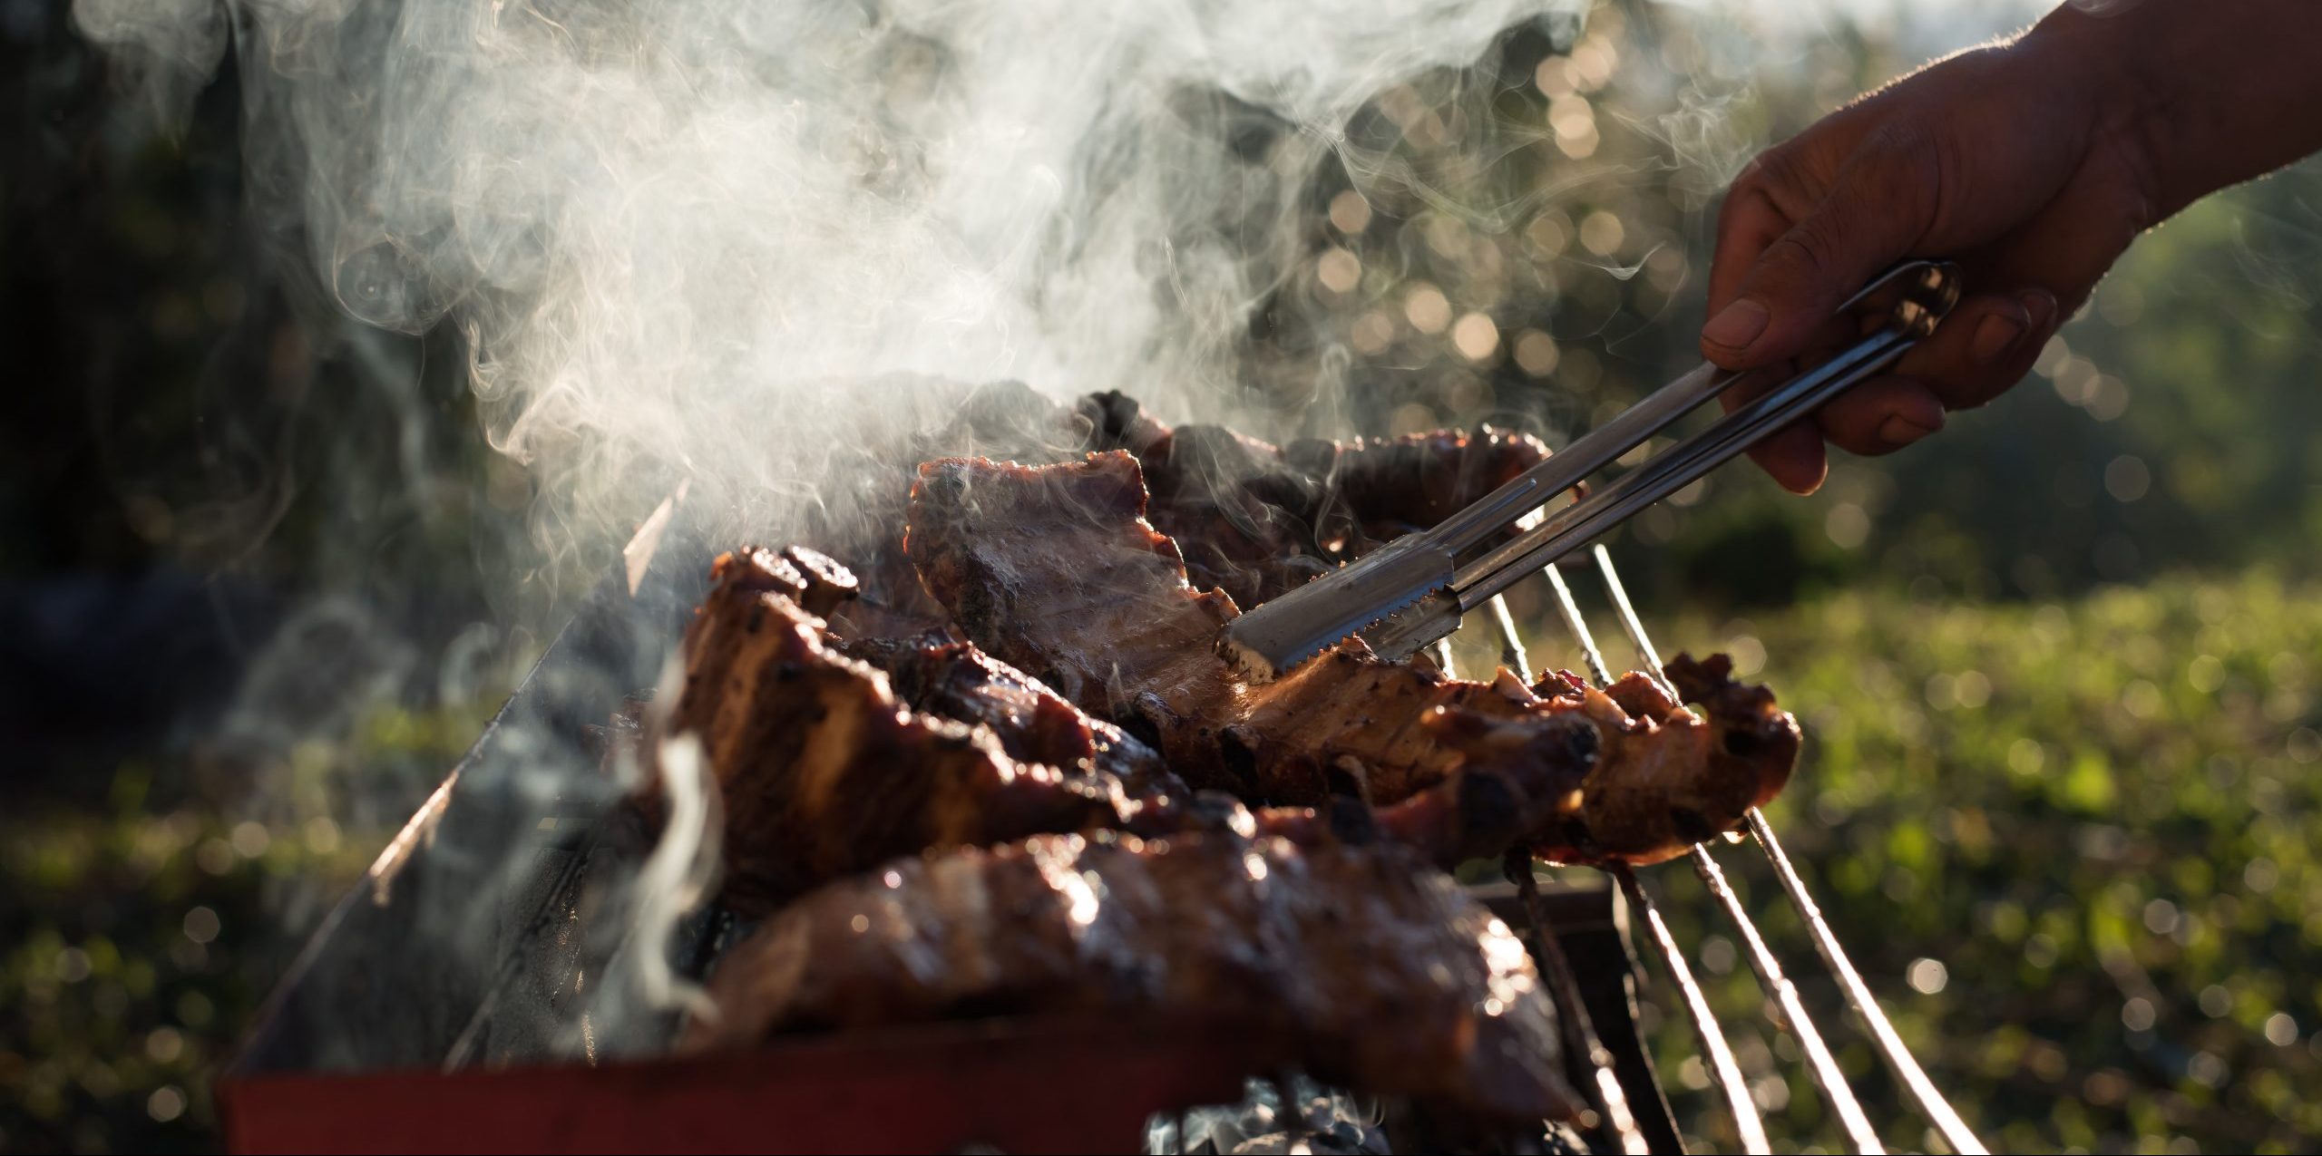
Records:
[[[1126,453],[1040,469],[938,460],[920,471],[906,548],[968,638],[1149,740],[1194,787],[1293,805],[1458,796],[1430,808],[1456,831],[1414,840],[1442,847],[1493,819],[1567,859],[1646,864],[1732,829],[1797,757],[1772,696],[1686,659],[1709,720],[1644,699],[1642,675],[1616,687],[1628,710],[1574,685],[1542,696],[1507,673],[1442,678],[1358,638],[1277,682],[1240,682],[1212,650],[1240,610],[1187,585],[1142,511]]]

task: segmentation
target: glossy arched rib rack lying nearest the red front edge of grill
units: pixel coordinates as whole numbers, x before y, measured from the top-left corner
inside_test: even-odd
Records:
[[[1247,819],[1247,815],[1245,815]],[[1235,831],[1233,826],[1240,826]],[[694,1049],[964,1014],[1161,1014],[1284,1040],[1324,1079],[1572,1119],[1523,945],[1391,845],[1036,836],[813,891],[727,952]]]

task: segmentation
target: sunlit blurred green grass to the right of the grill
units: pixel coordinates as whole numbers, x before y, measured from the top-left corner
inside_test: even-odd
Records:
[[[2296,1151],[2322,1135],[2322,1103],[2299,1093],[2322,1077],[2315,594],[2252,573],[2034,606],[1839,597],[1660,634],[1767,655],[1760,678],[1809,734],[1769,819],[1985,1142]],[[1721,857],[1872,1119],[1906,1119],[1753,859]],[[1714,998],[1776,1147],[1834,1142],[1700,884],[1683,866],[1651,880],[1723,973]],[[1667,1012],[1672,1089],[1700,1084]],[[1679,1100],[1730,1142],[1707,1096]],[[1927,1144],[1916,1126],[1885,1137]]]

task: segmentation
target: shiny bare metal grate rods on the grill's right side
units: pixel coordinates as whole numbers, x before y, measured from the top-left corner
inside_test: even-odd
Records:
[[[1595,546],[1593,555],[1598,573],[1605,578],[1607,597],[1614,606],[1616,617],[1621,620],[1621,629],[1637,648],[1637,657],[1644,659],[1649,678],[1653,678],[1653,682],[1658,682],[1663,692],[1667,692],[1674,699],[1676,687],[1672,687],[1663,675],[1660,652],[1653,648],[1651,636],[1646,636],[1644,622],[1637,617],[1637,608],[1628,599],[1628,587],[1621,583],[1621,573],[1611,564],[1611,555],[1605,550],[1605,546]],[[1605,662],[1602,650],[1598,650],[1588,622],[1581,617],[1579,601],[1572,597],[1572,587],[1565,583],[1563,573],[1553,564],[1546,566],[1544,573],[1549,578],[1549,587],[1556,594],[1558,613],[1565,620],[1565,627],[1572,631],[1574,643],[1579,643],[1581,648],[1581,657],[1588,664],[1588,675],[1598,685],[1611,682],[1611,669]],[[1516,636],[1514,615],[1505,613],[1505,606],[1498,604],[1493,606],[1493,624],[1498,627],[1500,634],[1502,655],[1521,655],[1523,643]],[[1846,994],[1848,1007],[1855,1012],[1855,1019],[1872,1035],[1878,1056],[1888,1063],[1895,1079],[1904,1086],[1911,1100],[1918,1103],[1918,1107],[1934,1124],[1934,1130],[1944,1137],[1946,1144],[1950,1144],[1953,1151],[1960,1151],[1962,1156],[1983,1156],[1985,1154],[1983,1144],[1974,1137],[1974,1133],[1967,1130],[1967,1124],[1950,1107],[1950,1103],[1944,1100],[1944,1093],[1937,1091],[1934,1082],[1927,1079],[1927,1072],[1902,1045],[1902,1038],[1895,1033],[1895,1026],[1885,1019],[1885,1012],[1869,994],[1869,987],[1862,982],[1862,975],[1846,959],[1846,949],[1830,931],[1827,919],[1823,919],[1820,908],[1807,891],[1804,877],[1800,877],[1797,868],[1790,864],[1790,857],[1781,850],[1781,843],[1776,840],[1774,829],[1765,822],[1765,815],[1751,808],[1746,815],[1746,824],[1758,847],[1772,864],[1774,875],[1781,880],[1783,894],[1788,896],[1790,905],[1807,924],[1813,938],[1816,954],[1837,977],[1839,989]],[[1725,910],[1725,917],[1735,924],[1735,931],[1739,933],[1748,952],[1751,970],[1755,973],[1760,987],[1767,994],[1767,1017],[1774,1021],[1776,1028],[1790,1033],[1790,1038],[1797,1040],[1800,1052],[1807,1059],[1807,1070],[1823,1089],[1823,1096],[1830,1103],[1832,1114],[1839,1119],[1839,1126],[1846,1133],[1848,1147],[1853,1151],[1865,1151],[1865,1154],[1885,1151],[1883,1144],[1878,1142],[1876,1130],[1869,1126],[1869,1119],[1862,1114],[1862,1107],[1855,1100],[1853,1089],[1846,1084],[1846,1075],[1839,1070],[1837,1061],[1830,1054],[1830,1047],[1823,1042],[1820,1031],[1807,1017],[1804,1003],[1797,996],[1797,987],[1783,975],[1781,963],[1765,945],[1765,935],[1758,933],[1755,922],[1751,922],[1748,912],[1742,908],[1739,896],[1725,880],[1725,873],[1718,868],[1716,859],[1711,859],[1709,847],[1695,845],[1690,850],[1690,859],[1695,873],[1702,877],[1702,884],[1711,891],[1711,896],[1718,898],[1718,905]],[[1676,938],[1670,933],[1667,922],[1660,917],[1660,910],[1653,905],[1651,896],[1637,882],[1637,875],[1632,870],[1628,870],[1625,866],[1616,866],[1611,868],[1611,875],[1621,882],[1621,889],[1630,898],[1630,903],[1642,912],[1649,940],[1660,954],[1672,984],[1679,989],[1679,996],[1686,1005],[1686,1014],[1693,1021],[1695,1038],[1702,1045],[1704,1052],[1702,1059],[1704,1065],[1709,1068],[1711,1082],[1718,1086],[1728,1110],[1735,1117],[1735,1135],[1739,1137],[1744,1151],[1767,1151],[1765,1126],[1758,1117],[1755,1103],[1751,1100],[1748,1084],[1744,1082],[1742,1070],[1735,1063],[1732,1047],[1728,1047],[1723,1028],[1718,1026],[1716,1017],[1709,1010],[1709,1000],[1702,996],[1700,984],[1693,980],[1693,970],[1686,963],[1683,952],[1676,945]],[[1535,929],[1535,935],[1544,935],[1544,931]]]

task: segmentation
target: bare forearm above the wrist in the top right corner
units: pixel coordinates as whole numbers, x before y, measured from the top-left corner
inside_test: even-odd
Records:
[[[2152,221],[2322,151],[2322,0],[2064,5],[2020,46],[2104,72]]]

